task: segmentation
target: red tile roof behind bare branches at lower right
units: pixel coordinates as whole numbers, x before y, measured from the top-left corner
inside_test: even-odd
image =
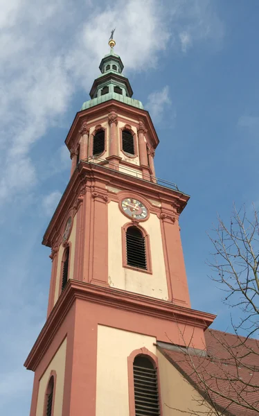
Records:
[[[211,329],[206,330],[205,339],[205,357],[191,350],[189,354],[164,347],[159,350],[203,397],[209,395],[224,410],[223,415],[258,416],[258,340]]]

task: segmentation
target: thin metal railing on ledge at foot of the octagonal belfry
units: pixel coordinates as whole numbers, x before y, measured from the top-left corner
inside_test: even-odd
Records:
[[[101,159],[100,157],[88,157],[87,159],[83,159],[81,162],[88,163],[88,164],[98,164],[102,166],[105,169],[109,169],[111,171],[118,171],[118,164],[115,164],[114,162],[111,162],[110,160]],[[106,166],[107,165],[107,166]],[[153,182],[154,184],[161,185],[161,187],[166,187],[170,189],[175,189],[175,191],[179,191],[177,184],[174,182],[169,182],[168,180],[161,179],[161,177],[152,176],[150,175],[150,180],[143,179],[143,173],[141,171],[138,171],[136,168],[138,166],[132,166],[132,168],[129,168],[128,166],[125,166],[123,164],[120,165],[120,173],[124,173],[125,175],[132,176],[134,173],[135,177],[138,177],[139,180],[143,180],[144,182]]]

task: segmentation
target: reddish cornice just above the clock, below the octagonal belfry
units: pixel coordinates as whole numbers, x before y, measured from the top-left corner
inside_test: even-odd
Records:
[[[42,244],[47,245],[48,247],[53,245],[54,236],[57,236],[58,229],[61,227],[67,211],[71,209],[74,204],[77,204],[81,188],[84,187],[85,181],[91,182],[93,178],[94,180],[100,180],[100,182],[105,182],[105,184],[110,184],[115,187],[131,189],[138,193],[141,192],[143,196],[146,196],[147,198],[158,198],[172,207],[177,207],[178,214],[183,211],[190,198],[181,191],[166,188],[154,182],[141,180],[138,177],[115,171],[100,164],[81,161],[77,168],[75,168],[75,171],[69,180],[69,184],[64,190],[62,198],[48,224]]]

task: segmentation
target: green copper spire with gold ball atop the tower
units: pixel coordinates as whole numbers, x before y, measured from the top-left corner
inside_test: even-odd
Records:
[[[119,55],[114,53],[116,42],[112,39],[114,31],[111,31],[109,39],[110,52],[100,62],[100,76],[96,78],[91,87],[91,100],[86,101],[81,110],[98,105],[108,100],[117,100],[143,109],[141,101],[132,98],[133,91],[130,81],[122,74],[124,65]]]

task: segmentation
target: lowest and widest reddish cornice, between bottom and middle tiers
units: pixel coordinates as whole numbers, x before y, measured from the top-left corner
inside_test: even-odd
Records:
[[[215,319],[215,315],[184,306],[177,306],[172,302],[159,300],[154,297],[139,295],[120,289],[106,288],[69,279],[66,288],[60,295],[53,311],[48,316],[42,331],[33,345],[24,365],[28,370],[35,370],[39,361],[44,356],[55,333],[60,328],[69,309],[76,299],[86,300],[102,306],[108,306],[123,311],[141,313],[162,320],[170,320],[177,324],[206,329]]]

